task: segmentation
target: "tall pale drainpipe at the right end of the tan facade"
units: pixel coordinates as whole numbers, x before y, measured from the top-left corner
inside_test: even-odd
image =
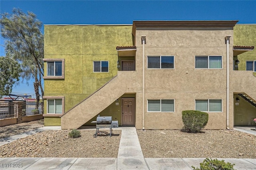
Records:
[[[226,67],[227,67],[227,88],[226,88],[226,129],[229,129],[229,39],[230,35],[226,36],[226,50],[227,50],[227,61],[226,61]]]

